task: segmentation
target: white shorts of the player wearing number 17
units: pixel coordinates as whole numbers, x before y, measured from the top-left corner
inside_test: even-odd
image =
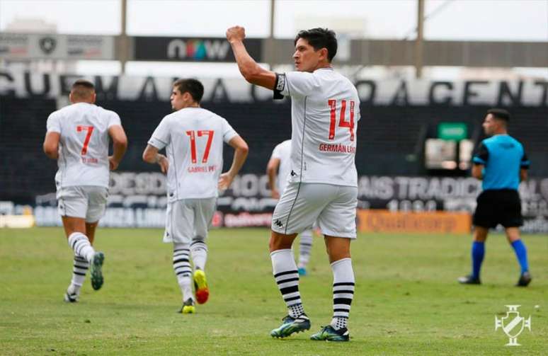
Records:
[[[216,197],[169,202],[164,242],[190,244],[195,238],[205,241],[216,205]]]

